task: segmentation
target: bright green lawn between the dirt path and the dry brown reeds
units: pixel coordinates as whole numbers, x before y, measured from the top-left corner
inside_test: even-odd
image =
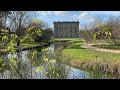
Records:
[[[80,47],[80,45],[84,44],[85,42],[77,42],[66,49],[63,50],[63,53],[72,58],[72,60],[76,61],[83,61],[83,60],[90,60],[95,61],[96,56],[97,60],[108,60],[108,61],[120,61],[120,54],[116,53],[109,53],[109,52],[99,52],[94,51],[91,49],[85,49]]]

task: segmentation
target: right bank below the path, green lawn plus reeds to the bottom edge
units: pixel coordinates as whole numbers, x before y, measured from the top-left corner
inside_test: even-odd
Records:
[[[116,69],[117,72],[112,74],[112,70],[119,68],[120,54],[99,52],[80,47],[84,43],[85,42],[81,42],[81,40],[79,40],[63,50],[63,60],[66,64],[89,72],[93,79],[119,78],[119,74],[116,74],[119,73],[119,71]],[[105,66],[108,66],[108,68]]]

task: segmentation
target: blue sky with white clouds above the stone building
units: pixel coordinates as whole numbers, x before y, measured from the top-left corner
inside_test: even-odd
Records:
[[[38,18],[53,28],[54,21],[79,21],[80,25],[89,24],[96,17],[108,19],[109,16],[120,16],[120,11],[38,11]]]

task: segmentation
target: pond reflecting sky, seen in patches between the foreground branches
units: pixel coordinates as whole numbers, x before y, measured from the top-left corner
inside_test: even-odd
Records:
[[[50,44],[48,48],[51,51],[50,54],[50,58],[52,58],[52,54],[56,51],[57,48],[59,47],[66,47],[66,43],[64,42],[56,42],[54,44]],[[41,49],[37,49],[39,51],[41,51]],[[19,55],[19,57],[17,57],[17,59],[19,59],[21,57],[22,60],[22,64],[20,64],[20,66],[22,66],[22,69],[18,67],[19,70],[21,70],[22,75],[24,76],[24,78],[29,78],[29,79],[50,79],[47,77],[46,75],[46,70],[45,68],[42,68],[39,72],[35,72],[37,66],[43,64],[44,60],[44,52],[41,51],[41,53],[38,53],[35,55],[34,58],[32,58],[32,50],[25,50],[22,51],[22,53],[17,53],[14,55],[8,54],[7,57],[10,58],[16,58],[16,56]],[[32,63],[35,62],[36,64],[34,66],[32,66]],[[31,67],[32,66],[32,67]],[[65,73],[67,73],[67,76],[64,79],[89,79],[90,75],[88,72],[67,66],[67,65],[63,65],[65,68]],[[9,69],[4,71],[2,74],[0,74],[0,79],[9,79],[9,78],[18,78],[17,76],[14,77],[14,73],[10,72]]]

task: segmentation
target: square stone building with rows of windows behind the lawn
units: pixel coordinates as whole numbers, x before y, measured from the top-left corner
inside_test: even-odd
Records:
[[[75,22],[54,22],[54,38],[78,38],[79,34],[79,21]]]

